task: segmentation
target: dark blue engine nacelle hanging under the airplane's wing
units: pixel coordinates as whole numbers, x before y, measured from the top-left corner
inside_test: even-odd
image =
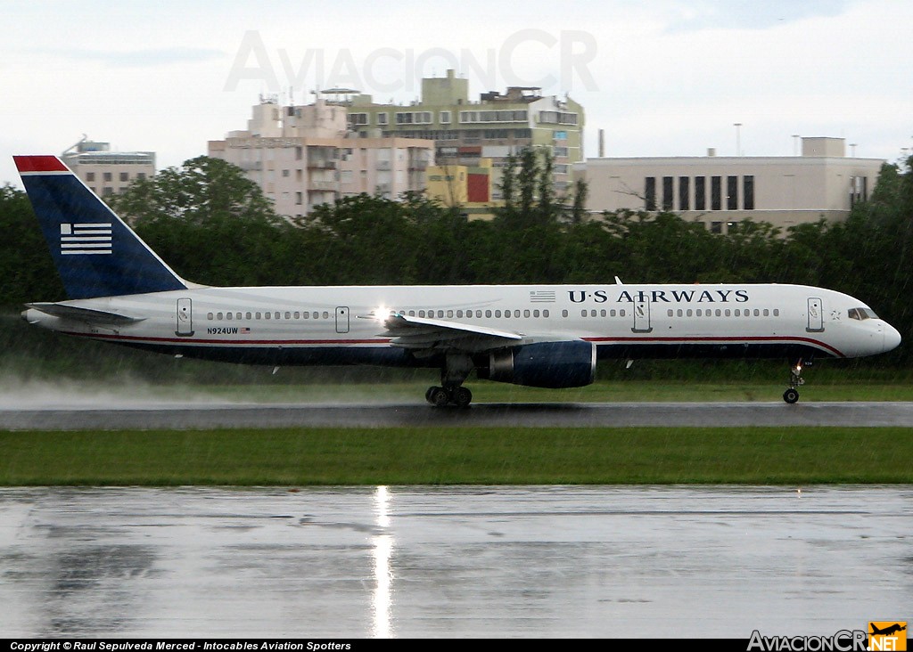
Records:
[[[480,369],[481,371],[481,369]],[[494,351],[479,378],[533,388],[580,388],[596,376],[592,342],[539,342]]]

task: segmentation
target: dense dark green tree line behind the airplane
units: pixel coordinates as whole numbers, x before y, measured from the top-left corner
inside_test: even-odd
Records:
[[[908,161],[913,163],[913,157]],[[549,161],[504,170],[505,206],[467,221],[421,193],[343,197],[289,221],[244,173],[199,157],[106,198],[175,272],[205,285],[779,283],[853,295],[913,341],[913,175],[882,167],[842,223],[728,234],[673,212],[583,210],[586,187],[551,190]],[[26,194],[0,188],[0,305],[66,298]],[[891,359],[913,361],[901,346]]]

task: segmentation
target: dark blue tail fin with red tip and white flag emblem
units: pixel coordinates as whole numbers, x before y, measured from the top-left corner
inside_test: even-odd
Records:
[[[14,156],[70,299],[187,285],[56,156]]]

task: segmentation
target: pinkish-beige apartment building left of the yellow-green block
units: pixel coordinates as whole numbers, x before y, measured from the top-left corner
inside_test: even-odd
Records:
[[[208,153],[247,172],[276,212],[295,218],[347,195],[396,199],[425,190],[434,148],[431,140],[360,138],[348,129],[345,107],[322,98],[286,107],[261,98],[247,129],[210,140]]]

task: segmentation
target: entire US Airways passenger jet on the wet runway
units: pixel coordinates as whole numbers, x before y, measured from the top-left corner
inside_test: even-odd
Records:
[[[817,357],[897,347],[852,296],[806,285],[215,287],[185,281],[56,156],[16,156],[68,299],[26,304],[30,324],[235,363],[440,370],[425,392],[466,407],[477,378],[538,388],[593,383],[597,360],[781,357],[795,403]]]

